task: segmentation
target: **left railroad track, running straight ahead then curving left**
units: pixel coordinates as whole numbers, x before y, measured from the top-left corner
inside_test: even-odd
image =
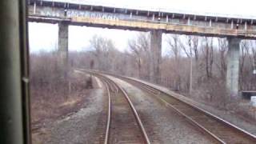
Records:
[[[142,121],[130,101],[126,91],[102,74],[86,71],[100,78],[108,95],[107,121],[103,120],[100,130],[104,130],[97,143],[150,143]],[[104,137],[104,138],[102,138]]]

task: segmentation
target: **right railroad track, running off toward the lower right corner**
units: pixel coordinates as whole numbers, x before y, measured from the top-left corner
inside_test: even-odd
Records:
[[[120,78],[130,84],[137,86],[148,94],[152,94],[158,98],[166,106],[175,110],[178,114],[182,115],[188,122],[196,126],[198,130],[207,134],[218,143],[256,143],[256,137],[253,134],[234,126],[230,122],[226,122],[222,118],[218,118],[214,114],[210,114],[206,110],[202,110],[197,106],[190,103],[183,102],[178,98],[174,98],[170,94],[166,94],[162,90],[158,90],[145,83],[138,82],[132,78],[126,78],[110,74],[116,78]]]

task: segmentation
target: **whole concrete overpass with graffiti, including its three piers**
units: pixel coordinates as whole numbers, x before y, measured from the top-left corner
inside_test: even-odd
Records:
[[[159,74],[162,33],[228,38],[226,87],[231,95],[238,94],[240,41],[256,39],[256,18],[182,14],[51,0],[29,0],[28,6],[30,22],[58,23],[58,50],[64,63],[68,58],[69,25],[150,31],[150,50],[153,52],[151,76]]]

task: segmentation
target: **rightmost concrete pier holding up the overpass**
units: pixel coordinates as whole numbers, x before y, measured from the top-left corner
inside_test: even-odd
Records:
[[[228,38],[229,49],[226,54],[226,90],[230,96],[238,96],[239,89],[239,47],[241,39]]]

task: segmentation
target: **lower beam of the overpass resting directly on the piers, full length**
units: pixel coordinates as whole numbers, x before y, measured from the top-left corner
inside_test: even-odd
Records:
[[[187,26],[181,24],[173,24],[169,22],[153,22],[138,19],[104,19],[104,18],[90,18],[90,17],[50,17],[40,14],[30,14],[30,22],[69,22],[70,25],[77,26],[94,26],[111,29],[122,30],[162,30],[166,33],[174,34],[191,34],[201,36],[213,37],[237,37],[237,38],[256,38],[255,30],[236,30],[224,29],[209,26]]]

